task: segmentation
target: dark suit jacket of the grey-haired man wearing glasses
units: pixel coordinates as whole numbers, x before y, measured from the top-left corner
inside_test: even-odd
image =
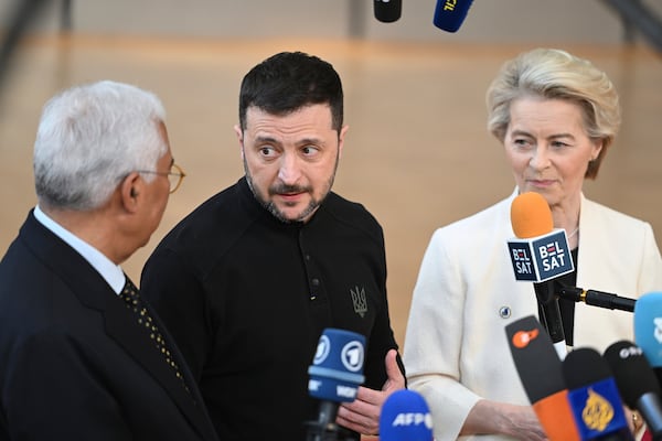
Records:
[[[0,262],[0,440],[216,440],[143,331],[31,212]]]

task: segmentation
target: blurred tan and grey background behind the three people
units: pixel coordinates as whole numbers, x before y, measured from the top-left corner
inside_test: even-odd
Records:
[[[433,24],[436,1],[403,3],[384,23],[372,0],[0,0],[0,251],[35,204],[32,143],[41,107],[60,89],[108,78],[166,105],[188,178],[124,266],[139,280],[160,238],[243,174],[233,126],[244,74],[276,52],[305,51],[343,79],[350,131],[334,190],[384,227],[402,344],[435,228],[513,190],[485,130],[484,93],[504,61],[536,46],[588,57],[616,84],[621,133],[585,192],[650,222],[662,246],[662,0],[477,0],[455,33]]]

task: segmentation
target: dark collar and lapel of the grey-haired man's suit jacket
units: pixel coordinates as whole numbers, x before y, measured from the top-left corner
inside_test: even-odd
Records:
[[[145,330],[135,320],[124,301],[110,289],[100,275],[73,248],[39,223],[32,213],[21,228],[21,237],[29,248],[68,284],[82,304],[100,311],[106,333],[139,363],[170,395],[172,400],[205,439],[216,439],[207,420],[195,379],[153,310],[157,321],[179,364],[191,394],[186,392],[174,372],[167,364]],[[149,308],[149,305],[148,305]]]

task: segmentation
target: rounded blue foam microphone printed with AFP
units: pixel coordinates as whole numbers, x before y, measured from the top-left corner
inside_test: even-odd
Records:
[[[380,441],[433,441],[433,417],[420,394],[396,390],[380,415]]]

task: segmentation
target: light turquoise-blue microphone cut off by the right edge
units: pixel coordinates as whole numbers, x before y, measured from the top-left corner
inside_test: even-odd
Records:
[[[662,292],[649,292],[634,303],[634,342],[662,385]]]

